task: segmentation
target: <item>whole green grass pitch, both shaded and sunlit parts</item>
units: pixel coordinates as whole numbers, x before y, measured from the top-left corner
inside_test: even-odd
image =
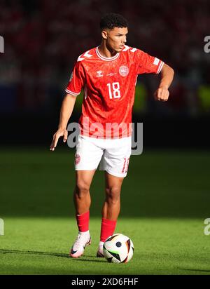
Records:
[[[145,151],[132,156],[116,232],[132,238],[127,264],[95,257],[104,174],[91,187],[92,244],[68,257],[77,235],[73,150],[0,151],[0,274],[210,274],[210,152]]]

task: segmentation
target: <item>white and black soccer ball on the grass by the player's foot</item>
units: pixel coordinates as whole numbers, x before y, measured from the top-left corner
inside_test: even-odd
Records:
[[[104,242],[103,252],[109,263],[127,263],[134,254],[134,244],[123,234],[113,234]]]

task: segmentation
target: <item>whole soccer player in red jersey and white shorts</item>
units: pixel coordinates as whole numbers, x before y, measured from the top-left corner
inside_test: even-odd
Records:
[[[70,250],[71,257],[83,255],[91,242],[89,231],[90,184],[95,170],[105,175],[105,201],[97,257],[103,257],[103,244],[113,235],[120,213],[120,190],[131,154],[132,107],[138,74],[159,74],[155,99],[166,101],[174,70],[162,60],[125,45],[127,20],[109,13],[100,21],[102,42],[78,57],[66,96],[62,102],[58,130],[50,149],[55,150],[59,137],[67,140],[66,126],[77,95],[84,89],[80,135],[75,154],[76,208],[78,237]]]

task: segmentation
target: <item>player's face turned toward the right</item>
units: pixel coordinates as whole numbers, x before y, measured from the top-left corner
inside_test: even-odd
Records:
[[[106,39],[106,46],[111,48],[111,50],[120,52],[123,50],[123,46],[126,43],[127,27],[113,29],[107,29],[104,34]]]

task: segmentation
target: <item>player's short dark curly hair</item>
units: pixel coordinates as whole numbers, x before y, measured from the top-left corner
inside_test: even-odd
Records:
[[[104,15],[100,21],[100,28],[113,29],[114,27],[123,28],[128,27],[127,20],[120,14],[107,13]]]

